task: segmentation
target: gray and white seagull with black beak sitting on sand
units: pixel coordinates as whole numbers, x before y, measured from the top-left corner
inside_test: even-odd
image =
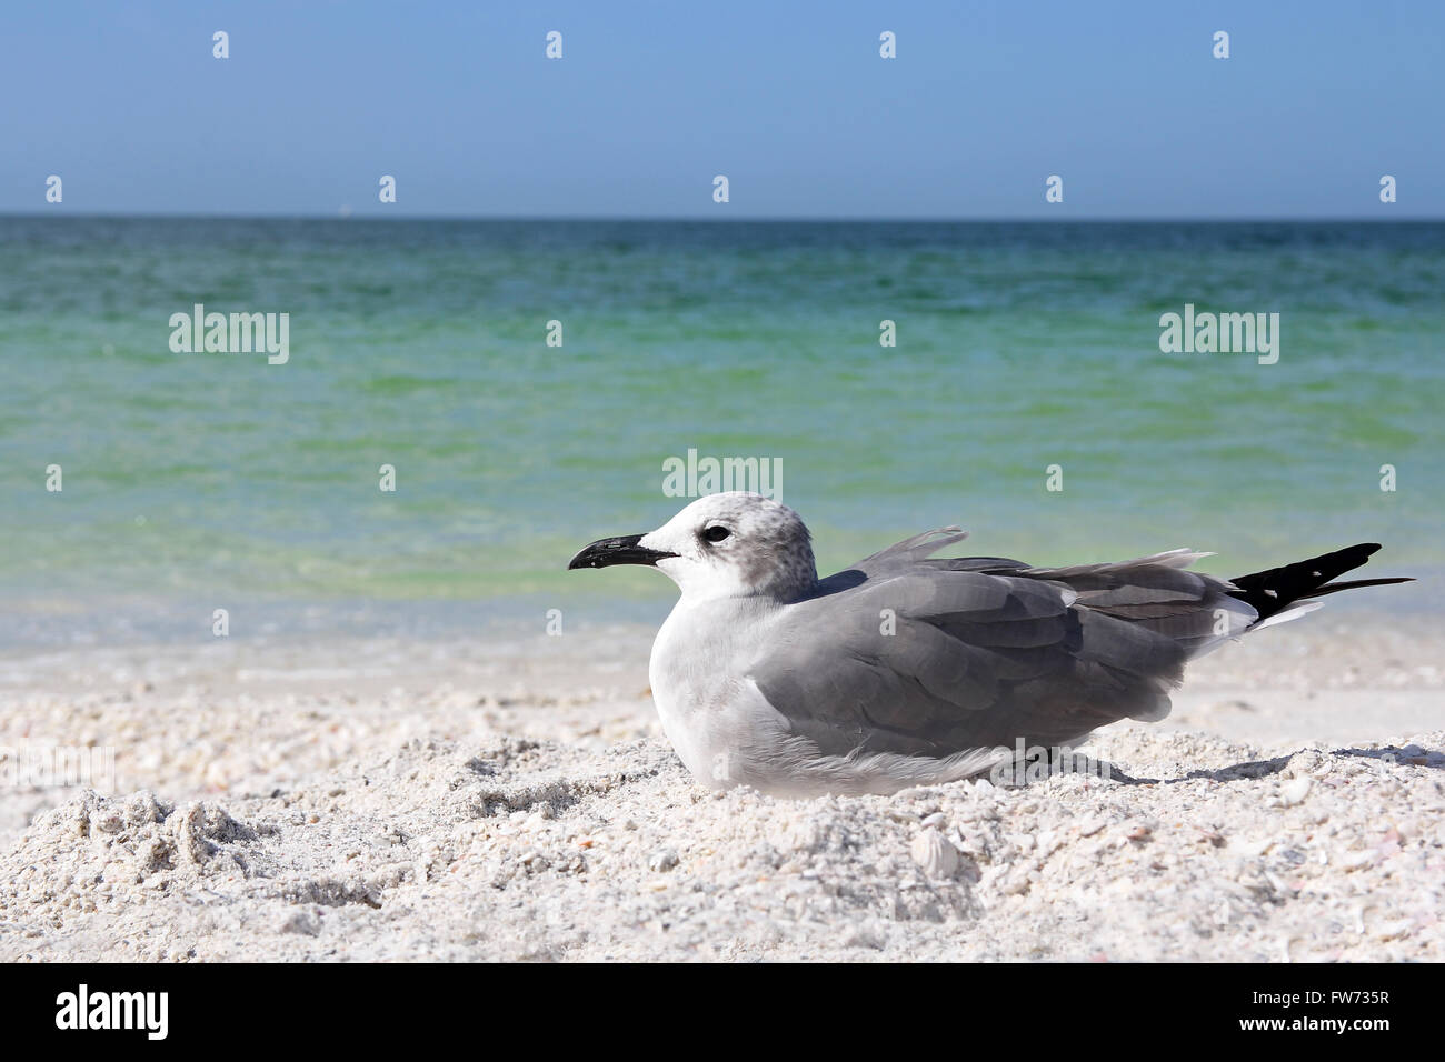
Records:
[[[1234,579],[1173,549],[1033,568],[935,558],[915,535],[818,578],[788,506],[708,494],[657,530],[600,539],[575,568],[647,565],[681,590],[649,675],[662,728],[702,785],[779,796],[894,793],[1071,746],[1116,720],[1162,720],[1195,656],[1293,620],[1380,549],[1361,543]]]

